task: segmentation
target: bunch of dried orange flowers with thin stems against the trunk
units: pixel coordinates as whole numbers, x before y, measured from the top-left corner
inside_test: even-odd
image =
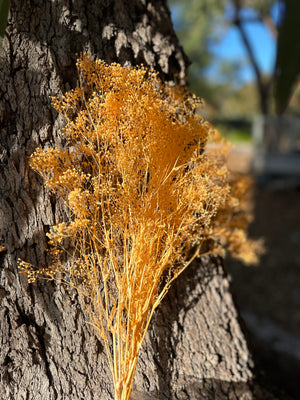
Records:
[[[211,128],[195,113],[199,100],[144,67],[84,55],[78,70],[79,87],[54,99],[68,120],[68,145],[37,149],[30,160],[67,204],[69,221],[48,235],[50,267],[22,261],[20,268],[31,282],[59,274],[78,290],[105,345],[115,399],[128,400],[139,349],[170,283],[208,239],[211,252],[224,240],[237,253],[249,242],[231,218],[239,203],[229,194],[224,146],[206,145]]]

